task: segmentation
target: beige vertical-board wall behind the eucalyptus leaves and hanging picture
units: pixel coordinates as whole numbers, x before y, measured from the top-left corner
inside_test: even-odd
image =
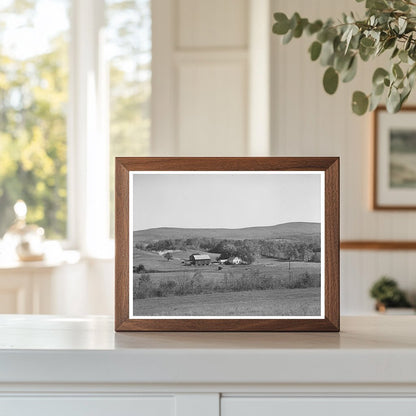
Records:
[[[298,11],[311,19],[334,18],[350,10],[364,15],[362,4],[351,0],[272,0],[273,12]],[[324,68],[311,62],[307,52],[312,40],[304,37],[282,45],[277,36],[272,38],[272,154],[341,157],[342,240],[415,240],[416,212],[375,212],[370,207],[371,116],[353,115],[350,103],[354,90],[370,92],[377,61],[360,63],[357,79],[329,96],[322,88]],[[371,312],[368,289],[383,274],[415,295],[415,266],[413,251],[342,251],[342,313]]]

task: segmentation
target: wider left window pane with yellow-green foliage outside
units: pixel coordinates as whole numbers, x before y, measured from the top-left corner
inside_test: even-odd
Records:
[[[67,224],[68,0],[0,6],[0,236],[24,199],[49,238]],[[53,13],[54,19],[50,19]]]

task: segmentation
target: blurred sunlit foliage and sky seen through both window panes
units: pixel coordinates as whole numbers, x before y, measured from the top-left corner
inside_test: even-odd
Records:
[[[48,238],[67,236],[71,3],[0,3],[0,238],[17,199],[28,205],[28,222],[45,228]],[[112,236],[114,157],[149,152],[151,0],[103,0],[103,7],[111,214],[103,226]]]

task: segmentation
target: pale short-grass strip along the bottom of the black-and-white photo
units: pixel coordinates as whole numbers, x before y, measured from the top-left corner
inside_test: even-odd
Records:
[[[275,289],[135,299],[135,316],[317,316],[320,289]]]

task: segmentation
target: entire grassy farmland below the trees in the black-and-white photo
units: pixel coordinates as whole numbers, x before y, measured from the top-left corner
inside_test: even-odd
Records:
[[[320,311],[320,263],[256,259],[250,265],[189,265],[194,251],[134,249],[135,315],[308,316]],[[208,254],[215,261],[218,254]]]

